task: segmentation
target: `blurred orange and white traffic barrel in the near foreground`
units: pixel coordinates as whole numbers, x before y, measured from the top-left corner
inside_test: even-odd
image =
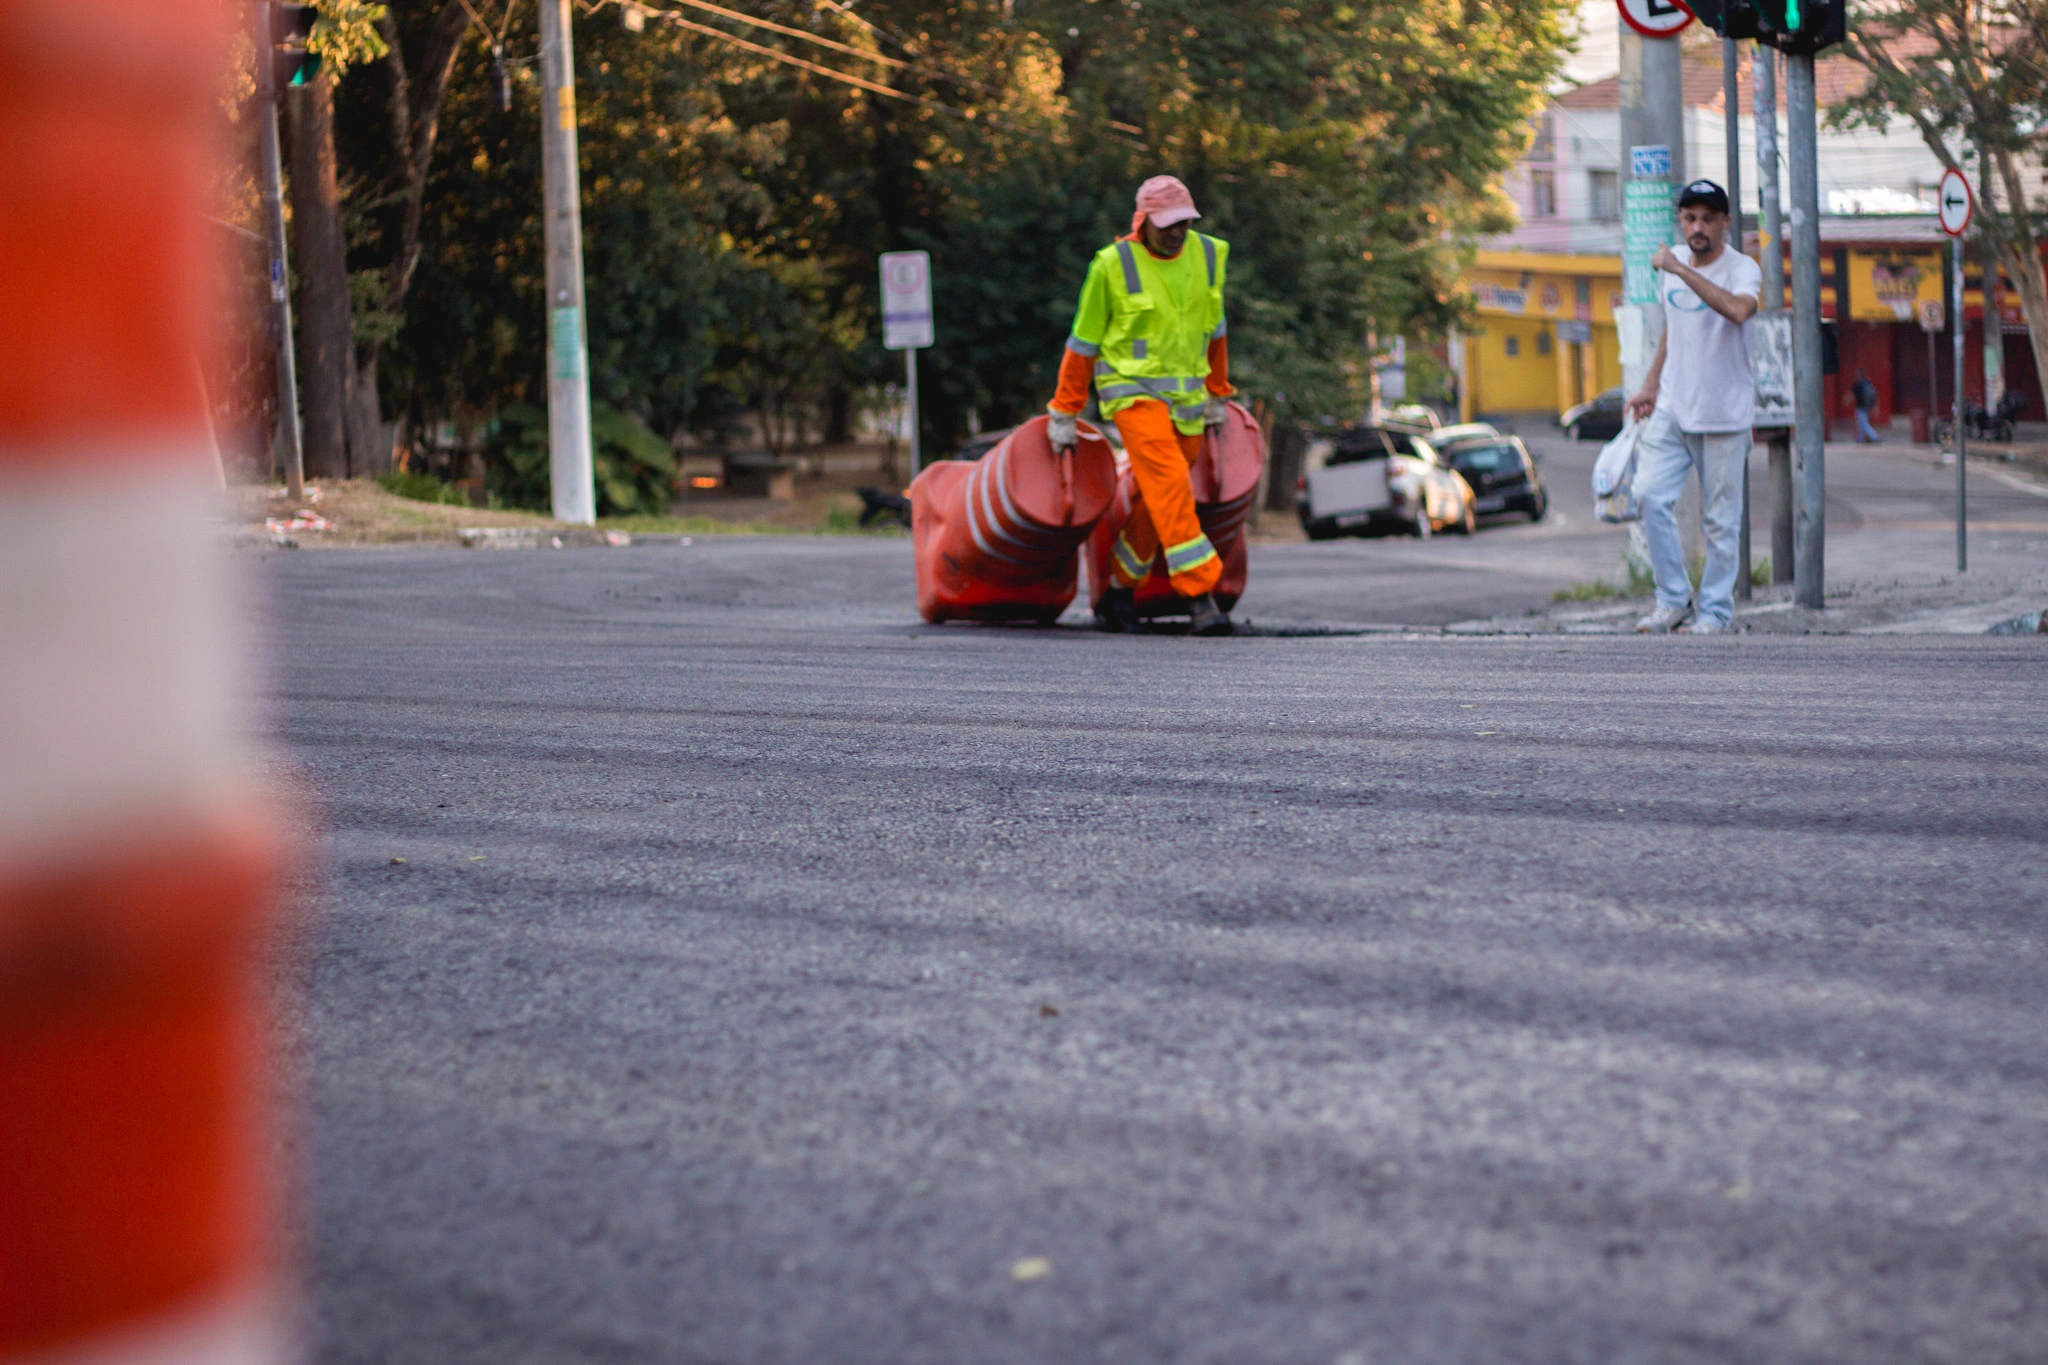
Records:
[[[233,6],[0,4],[0,1359],[287,1359],[201,372]]]

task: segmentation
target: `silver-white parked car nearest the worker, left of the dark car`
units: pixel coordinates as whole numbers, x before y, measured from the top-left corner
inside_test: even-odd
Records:
[[[1311,540],[1403,530],[1473,534],[1473,487],[1413,432],[1354,426],[1309,446],[1294,516]]]

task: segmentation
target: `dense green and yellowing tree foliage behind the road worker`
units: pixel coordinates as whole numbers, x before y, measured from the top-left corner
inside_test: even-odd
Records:
[[[498,23],[502,0],[477,8]],[[856,51],[680,0],[641,33],[614,8],[575,27],[592,391],[655,432],[752,411],[793,442],[807,415],[815,434],[852,391],[893,381],[874,258],[903,248],[934,260],[926,440],[969,413],[1022,420],[1051,397],[1087,258],[1159,172],[1233,241],[1239,385],[1282,411],[1352,409],[1374,334],[1460,317],[1460,252],[1505,227],[1493,184],[1565,45],[1561,0],[743,8]],[[393,6],[399,59],[444,14]],[[385,403],[418,417],[477,420],[545,385],[537,63],[530,33],[508,33],[500,113],[494,39],[467,25],[457,45],[420,260],[387,323]],[[360,272],[393,268],[389,104],[389,82],[342,86]]]

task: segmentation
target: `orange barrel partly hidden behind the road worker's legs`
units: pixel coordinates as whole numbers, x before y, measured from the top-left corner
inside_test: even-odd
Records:
[[[1266,434],[1243,403],[1231,403],[1223,426],[1202,434],[1202,456],[1188,471],[1194,489],[1194,516],[1202,534],[1223,559],[1223,579],[1217,583],[1217,606],[1229,612],[1245,596],[1245,522],[1260,495],[1260,475],[1266,473]],[[1102,602],[1110,589],[1110,546],[1130,520],[1130,463],[1116,460],[1116,495],[1087,538],[1087,600]],[[1165,575],[1165,557],[1153,559],[1151,573],[1137,589],[1139,616],[1186,614],[1180,593]]]

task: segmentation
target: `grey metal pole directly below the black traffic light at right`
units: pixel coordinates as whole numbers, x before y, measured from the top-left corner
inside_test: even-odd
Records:
[[[1827,448],[1821,444],[1821,164],[1812,53],[1786,53],[1792,162],[1792,475],[1798,487],[1792,600],[1827,604]]]

